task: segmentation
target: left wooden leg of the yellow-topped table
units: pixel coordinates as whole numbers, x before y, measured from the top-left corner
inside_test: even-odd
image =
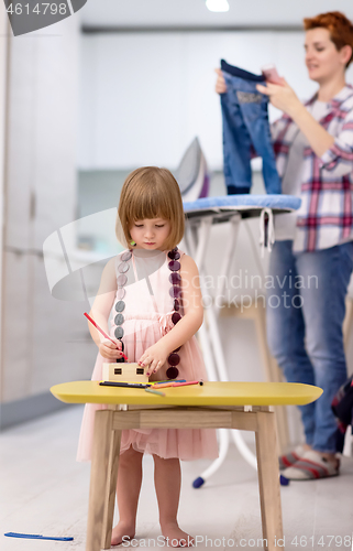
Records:
[[[96,411],[86,551],[110,549],[121,431],[112,410]]]

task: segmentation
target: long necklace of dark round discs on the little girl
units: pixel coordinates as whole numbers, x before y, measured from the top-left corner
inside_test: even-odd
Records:
[[[172,287],[169,289],[169,295],[173,299],[173,307],[174,307],[174,312],[172,314],[172,322],[174,325],[176,325],[178,323],[178,321],[181,320],[181,314],[179,312],[180,305],[181,305],[180,304],[180,302],[181,302],[181,288],[180,288],[181,277],[179,273],[180,268],[181,268],[180,262],[179,262],[180,252],[178,251],[178,248],[175,247],[174,249],[169,250],[167,256],[169,259],[168,269],[172,272],[169,276],[169,282],[172,283]],[[121,257],[120,257],[121,262],[118,266],[118,272],[119,272],[119,276],[117,278],[117,282],[118,282],[117,299],[118,299],[118,302],[115,303],[117,315],[114,317],[114,324],[117,325],[117,327],[114,329],[114,335],[121,343],[122,352],[124,352],[124,343],[122,341],[122,338],[124,336],[124,329],[122,327],[122,325],[124,323],[124,315],[122,314],[122,312],[125,310],[125,303],[124,303],[123,299],[124,299],[125,293],[126,293],[126,289],[125,289],[125,284],[128,281],[126,272],[130,269],[129,260],[131,258],[132,258],[132,250],[129,249],[121,255]],[[169,367],[166,371],[166,376],[168,379],[176,379],[179,375],[179,369],[177,368],[177,365],[180,361],[180,357],[177,353],[180,350],[180,348],[181,347],[179,346],[178,348],[173,350],[172,354],[169,354],[169,356],[168,356],[167,361],[168,361]],[[117,361],[123,363],[124,358],[118,358]]]

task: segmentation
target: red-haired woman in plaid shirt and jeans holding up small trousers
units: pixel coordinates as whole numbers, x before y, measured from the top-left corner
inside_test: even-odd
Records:
[[[272,126],[277,170],[283,193],[301,197],[298,212],[275,219],[268,346],[288,381],[323,389],[317,402],[300,407],[306,443],[279,458],[290,479],[339,474],[331,401],[346,379],[342,323],[353,269],[353,87],[345,83],[353,25],[337,11],[304,25],[315,96],[302,105],[284,78],[256,86],[284,111]],[[217,72],[216,90],[224,94]]]

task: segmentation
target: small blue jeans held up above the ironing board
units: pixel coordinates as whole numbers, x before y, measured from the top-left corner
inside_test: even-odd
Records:
[[[280,193],[280,179],[268,125],[268,98],[256,90],[262,75],[247,73],[221,60],[227,93],[221,94],[224,177],[228,194],[250,193],[252,147],[263,159],[267,193]]]

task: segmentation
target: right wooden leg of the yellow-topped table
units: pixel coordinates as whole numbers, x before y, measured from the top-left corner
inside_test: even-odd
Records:
[[[284,549],[284,540],[275,415],[269,411],[258,411],[256,418],[255,436],[264,548],[268,551],[278,551],[278,547]]]

